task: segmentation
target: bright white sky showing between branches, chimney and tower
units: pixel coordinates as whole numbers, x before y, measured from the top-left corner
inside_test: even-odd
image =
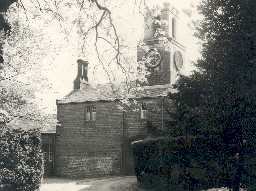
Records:
[[[181,29],[179,30],[179,36],[180,41],[186,47],[186,57],[188,60],[196,60],[196,58],[199,56],[199,46],[197,40],[193,37],[193,31],[187,27],[187,24],[191,23],[192,19],[187,17],[183,10],[189,9],[192,11],[193,19],[196,20],[199,18],[199,16],[195,6],[192,5],[196,5],[198,1],[199,0],[168,1],[171,6],[173,5],[179,10],[179,23]],[[117,0],[116,3],[112,4],[111,10],[118,33],[122,39],[124,39],[123,43],[130,47],[127,54],[130,54],[131,57],[136,60],[137,41],[143,38],[144,30],[143,15],[140,13],[141,9],[139,11],[139,9],[134,6],[134,2],[139,2],[139,0]],[[163,2],[166,2],[166,0],[147,0],[146,2],[150,7],[154,7],[156,5],[161,6]],[[43,36],[43,39],[38,42],[39,45],[45,43],[45,47],[48,47],[49,52],[52,52],[52,54],[45,54],[44,57],[40,58],[40,72],[48,79],[51,88],[42,88],[40,91],[37,91],[35,95],[36,102],[40,109],[46,113],[55,113],[56,99],[62,98],[72,90],[73,80],[77,74],[76,60],[78,58],[82,58],[90,62],[90,83],[107,82],[107,76],[104,74],[104,71],[101,67],[97,66],[98,61],[93,54],[93,48],[91,47],[90,42],[88,43],[87,47],[89,53],[87,53],[86,56],[81,56],[81,51],[79,51],[81,39],[77,34],[77,29],[70,24],[72,23],[72,19],[70,20],[70,18],[72,18],[74,12],[70,12],[69,14],[67,14],[67,12],[68,11],[65,11],[66,17],[64,18],[65,21],[67,21],[67,26],[62,26],[61,29],[59,23],[51,21],[50,18],[48,20],[46,18],[44,22],[39,22],[35,17],[32,21],[30,21],[30,26]],[[35,15],[35,13],[31,13],[31,15]],[[61,24],[65,25],[65,22],[63,23]],[[68,35],[63,35],[63,31],[61,31],[63,28],[67,29],[67,31],[65,31],[65,35]],[[91,41],[93,41],[93,36],[91,37]],[[50,45],[55,44],[56,47],[53,48],[53,46],[50,46],[49,42],[51,42]],[[56,49],[58,50],[57,54],[54,54]],[[90,53],[90,51],[92,52]],[[192,68],[192,66],[186,66],[187,71],[190,71]],[[31,82],[33,79],[29,77],[26,80],[29,79]]]

